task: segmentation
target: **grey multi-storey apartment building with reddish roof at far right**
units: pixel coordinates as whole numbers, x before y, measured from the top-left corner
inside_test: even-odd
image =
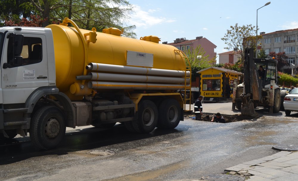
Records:
[[[289,30],[274,31],[271,33],[261,32],[261,46],[258,46],[258,52],[263,48],[269,57],[269,52],[285,52],[288,56],[288,63],[298,66],[298,28]]]

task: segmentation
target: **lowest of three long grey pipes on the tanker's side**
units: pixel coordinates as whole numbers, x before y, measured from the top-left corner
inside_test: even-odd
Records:
[[[187,85],[187,87],[189,88],[190,85]],[[90,82],[88,82],[88,88],[93,88],[93,89],[179,90],[179,89],[184,89],[184,85],[90,81]]]

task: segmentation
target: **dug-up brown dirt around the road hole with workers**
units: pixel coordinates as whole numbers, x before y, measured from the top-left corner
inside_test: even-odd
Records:
[[[211,121],[213,116],[215,116],[215,114],[213,114],[213,115],[203,114],[201,121]],[[257,118],[259,118],[259,117],[244,116],[241,114],[235,114],[235,115],[224,115],[223,114],[222,116],[226,120],[226,123],[237,122],[237,121],[242,121],[242,120],[256,120]],[[195,119],[195,115],[184,115],[184,117]]]

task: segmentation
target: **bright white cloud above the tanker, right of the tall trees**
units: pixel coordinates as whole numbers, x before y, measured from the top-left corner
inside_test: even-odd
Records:
[[[148,28],[150,26],[161,24],[161,23],[172,23],[176,20],[168,19],[164,17],[155,17],[153,15],[150,15],[150,13],[154,13],[156,11],[159,11],[160,9],[157,8],[157,10],[149,9],[148,11],[143,11],[141,7],[138,5],[134,5],[134,14],[131,15],[131,19],[129,20],[129,24],[136,25],[137,27],[142,28]]]

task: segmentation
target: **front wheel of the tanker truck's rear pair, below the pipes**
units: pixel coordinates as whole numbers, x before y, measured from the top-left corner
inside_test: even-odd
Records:
[[[150,100],[139,102],[136,118],[136,120],[132,121],[136,132],[150,133],[154,130],[158,121],[156,105]]]

